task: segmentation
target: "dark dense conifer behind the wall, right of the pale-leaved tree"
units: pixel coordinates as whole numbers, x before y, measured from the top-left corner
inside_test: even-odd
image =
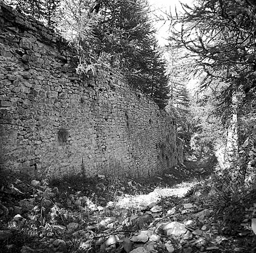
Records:
[[[125,72],[164,108],[169,99],[166,64],[156,51],[148,10],[146,0],[98,0],[91,9],[99,15],[95,50],[99,61]]]

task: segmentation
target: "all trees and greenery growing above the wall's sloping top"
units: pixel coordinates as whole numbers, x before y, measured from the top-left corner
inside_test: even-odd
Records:
[[[168,104],[166,63],[157,50],[147,0],[6,0],[53,27],[76,49],[79,74],[104,65],[125,73],[131,83]]]

